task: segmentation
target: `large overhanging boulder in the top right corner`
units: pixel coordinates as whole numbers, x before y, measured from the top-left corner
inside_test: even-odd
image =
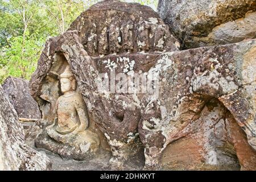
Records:
[[[184,48],[237,43],[256,36],[256,1],[160,0],[158,13]]]

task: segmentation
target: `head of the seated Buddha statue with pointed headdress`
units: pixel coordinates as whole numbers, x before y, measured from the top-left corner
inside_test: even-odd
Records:
[[[67,66],[65,71],[60,75],[61,92],[66,93],[76,90],[76,85],[76,79],[73,76],[69,66]]]

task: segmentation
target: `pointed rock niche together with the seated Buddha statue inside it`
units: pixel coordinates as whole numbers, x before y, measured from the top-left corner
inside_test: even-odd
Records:
[[[109,153],[104,135],[89,119],[76,78],[63,53],[55,53],[36,100],[42,111],[39,123],[44,129],[35,140],[36,147],[77,160]]]

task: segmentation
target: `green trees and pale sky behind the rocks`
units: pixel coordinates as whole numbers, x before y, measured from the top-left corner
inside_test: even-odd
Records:
[[[63,33],[100,0],[0,0],[0,84],[8,76],[30,79],[44,43]],[[158,0],[123,0],[156,9]]]

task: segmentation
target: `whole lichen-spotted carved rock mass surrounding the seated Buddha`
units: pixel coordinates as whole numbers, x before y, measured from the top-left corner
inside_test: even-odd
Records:
[[[61,75],[70,69],[88,130],[101,148],[110,146],[113,167],[255,169],[255,40],[178,47],[149,7],[103,1],[86,10],[69,31],[47,41],[31,78],[40,125],[47,126],[36,145],[75,159],[89,155],[63,140],[67,135],[56,138],[48,130],[57,131]],[[190,151],[195,158],[186,158]]]

